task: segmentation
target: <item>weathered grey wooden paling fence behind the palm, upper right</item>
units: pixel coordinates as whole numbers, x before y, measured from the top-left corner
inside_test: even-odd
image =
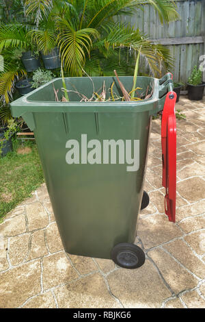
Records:
[[[161,25],[148,4],[133,16],[124,16],[124,21],[169,48],[174,58],[174,80],[185,84],[193,66],[199,66],[200,56],[205,55],[205,0],[176,0],[176,4],[181,19],[169,25]]]

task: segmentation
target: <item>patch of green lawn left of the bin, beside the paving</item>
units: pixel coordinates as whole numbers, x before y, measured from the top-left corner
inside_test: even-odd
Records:
[[[31,196],[44,182],[44,177],[35,143],[16,143],[13,152],[0,158],[0,169],[1,221],[18,203]]]

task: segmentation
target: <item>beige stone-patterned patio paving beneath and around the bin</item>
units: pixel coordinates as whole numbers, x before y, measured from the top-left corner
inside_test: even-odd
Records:
[[[0,308],[205,308],[205,99],[182,97],[177,120],[176,223],[164,214],[160,120],[152,123],[135,243],[139,269],[66,254],[45,184],[0,225]]]

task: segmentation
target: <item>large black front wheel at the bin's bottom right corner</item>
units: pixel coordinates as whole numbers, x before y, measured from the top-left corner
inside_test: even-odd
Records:
[[[145,262],[145,254],[137,245],[121,243],[113,247],[111,259],[124,269],[137,269]]]

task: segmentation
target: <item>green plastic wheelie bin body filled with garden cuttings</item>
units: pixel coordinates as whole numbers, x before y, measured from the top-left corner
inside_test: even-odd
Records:
[[[142,101],[83,101],[109,88],[122,97],[115,77],[66,78],[69,101],[55,101],[62,79],[11,103],[34,132],[53,212],[66,252],[111,258],[134,269],[145,261],[134,244],[140,208],[148,205],[143,182],[152,116],[172,92],[172,74],[137,77]],[[133,77],[120,77],[131,91]],[[81,95],[79,95],[81,93]]]

